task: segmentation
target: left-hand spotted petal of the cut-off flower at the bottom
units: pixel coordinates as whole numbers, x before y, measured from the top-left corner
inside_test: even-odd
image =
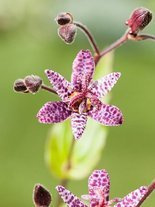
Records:
[[[58,185],[56,187],[56,190],[68,207],[87,207],[84,203],[80,201],[79,198],[77,198],[74,194],[72,194],[69,190],[65,189],[63,186]]]

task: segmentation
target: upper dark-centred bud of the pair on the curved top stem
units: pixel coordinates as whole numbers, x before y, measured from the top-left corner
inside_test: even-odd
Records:
[[[69,24],[69,23],[72,23],[73,22],[73,17],[70,13],[60,13],[56,18],[55,18],[57,24],[59,25],[66,25],[66,24]]]

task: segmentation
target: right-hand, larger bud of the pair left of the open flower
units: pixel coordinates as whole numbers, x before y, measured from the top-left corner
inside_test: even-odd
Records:
[[[42,85],[42,80],[37,75],[26,76],[24,81],[25,81],[25,85],[30,93],[36,93]]]

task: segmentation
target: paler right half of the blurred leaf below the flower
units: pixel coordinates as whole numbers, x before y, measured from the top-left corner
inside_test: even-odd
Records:
[[[92,119],[88,120],[84,135],[76,141],[69,178],[87,177],[96,167],[105,146],[107,130]]]

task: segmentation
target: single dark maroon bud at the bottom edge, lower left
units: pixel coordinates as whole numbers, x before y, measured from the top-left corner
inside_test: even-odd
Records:
[[[33,201],[35,207],[48,207],[52,201],[51,194],[41,184],[34,186]]]

